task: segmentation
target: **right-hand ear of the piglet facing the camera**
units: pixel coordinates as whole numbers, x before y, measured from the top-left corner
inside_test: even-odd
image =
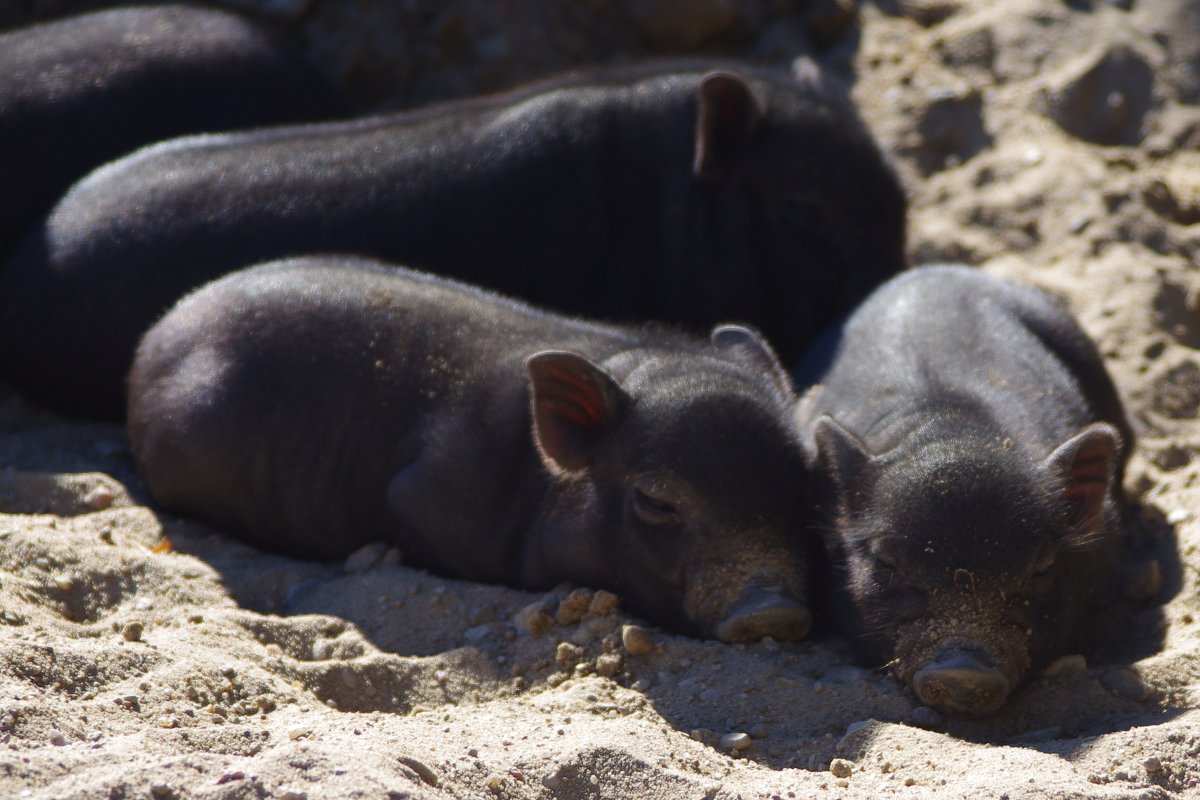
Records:
[[[1120,452],[1117,429],[1106,422],[1093,422],[1058,445],[1045,461],[1054,486],[1061,487],[1072,522],[1082,535],[1100,523]]]

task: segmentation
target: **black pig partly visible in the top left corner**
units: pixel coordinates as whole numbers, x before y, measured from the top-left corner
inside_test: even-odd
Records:
[[[335,110],[296,52],[215,10],[116,8],[0,34],[0,253],[76,180],[142,145]]]

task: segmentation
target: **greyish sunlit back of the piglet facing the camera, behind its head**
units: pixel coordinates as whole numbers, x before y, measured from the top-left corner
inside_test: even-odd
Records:
[[[971,267],[930,266],[878,289],[847,321],[810,414],[883,452],[961,410],[1042,458],[1096,420],[1128,426],[1096,347],[1055,299]]]

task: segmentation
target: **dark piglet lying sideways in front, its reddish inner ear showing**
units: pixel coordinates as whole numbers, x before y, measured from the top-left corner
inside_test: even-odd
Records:
[[[354,258],[235,272],[142,342],[154,498],[264,548],[394,542],[445,575],[608,588],[726,640],[802,638],[804,451],[786,373]]]

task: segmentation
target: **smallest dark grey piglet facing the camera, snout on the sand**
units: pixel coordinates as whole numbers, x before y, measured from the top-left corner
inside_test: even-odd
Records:
[[[1037,289],[929,267],[812,378],[842,631],[926,705],[995,711],[1080,644],[1109,569],[1132,434],[1096,348]]]

